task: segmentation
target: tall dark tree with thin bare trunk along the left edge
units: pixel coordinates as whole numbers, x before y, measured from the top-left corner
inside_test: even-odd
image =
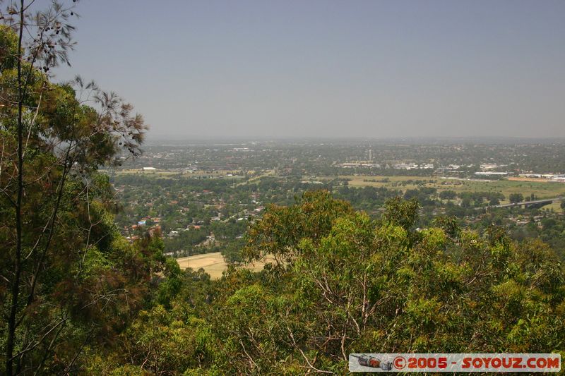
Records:
[[[112,190],[96,171],[138,155],[146,126],[130,104],[93,82],[77,77],[53,83],[52,68],[69,63],[74,46],[75,3],[52,1],[40,9],[33,0],[0,1],[0,296],[6,322],[0,329],[7,375],[41,372],[71,322],[101,302],[114,302],[120,292],[105,290],[107,281],[100,289],[85,287],[92,255],[109,252],[115,238],[107,212]],[[85,331],[76,356],[93,330]]]

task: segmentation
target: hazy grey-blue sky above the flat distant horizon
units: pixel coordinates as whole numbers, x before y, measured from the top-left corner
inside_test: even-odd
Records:
[[[83,0],[151,138],[565,136],[565,1]]]

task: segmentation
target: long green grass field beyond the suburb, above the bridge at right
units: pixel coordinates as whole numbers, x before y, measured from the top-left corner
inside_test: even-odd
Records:
[[[441,178],[437,176],[339,176],[340,178],[350,178],[348,182],[352,187],[374,186],[396,188],[403,190],[414,189],[417,186],[408,184],[402,186],[399,183],[408,180],[433,180],[434,183],[426,183],[425,186],[433,187],[437,190],[455,190],[456,192],[477,192],[477,191],[494,191],[501,192],[509,197],[511,193],[522,193],[529,196],[531,193],[537,198],[554,198],[565,195],[565,183],[555,183],[549,181],[516,181],[516,180],[458,180],[450,178]],[[388,182],[379,180],[388,178]]]

